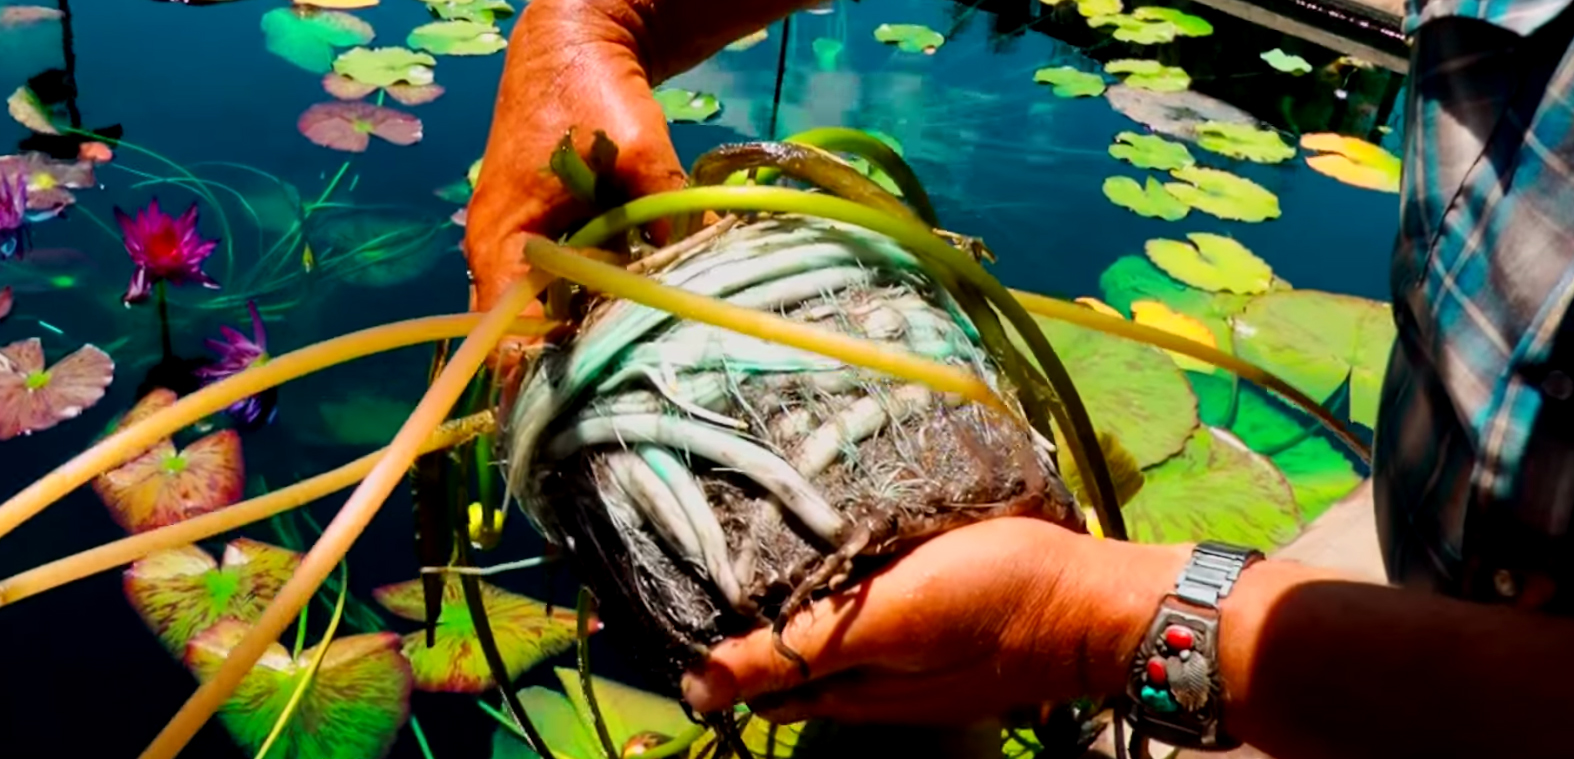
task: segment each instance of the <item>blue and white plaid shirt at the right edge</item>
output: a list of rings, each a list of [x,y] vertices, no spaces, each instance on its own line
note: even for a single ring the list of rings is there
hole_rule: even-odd
[[[1410,8],[1399,339],[1374,450],[1399,583],[1535,605],[1574,587],[1569,2]]]

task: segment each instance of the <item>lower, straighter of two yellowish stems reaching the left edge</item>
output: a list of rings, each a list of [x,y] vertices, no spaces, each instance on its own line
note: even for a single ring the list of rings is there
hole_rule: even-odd
[[[477,435],[491,433],[496,428],[497,417],[491,411],[482,411],[464,419],[455,419],[439,427],[438,431],[427,438],[420,452],[430,454],[433,450],[453,447],[475,438]],[[382,460],[387,450],[389,449],[386,447],[375,450],[337,469],[301,480],[286,488],[279,488],[264,496],[241,501],[228,509],[219,509],[217,512],[178,521],[167,528],[139,532],[112,543],[104,543],[98,548],[66,556],[65,559],[52,561],[41,567],[33,567],[27,572],[13,575],[8,579],[0,579],[0,606],[16,603],[44,591],[52,591],[66,583],[76,583],[77,579],[99,572],[123,567],[151,553],[190,545],[198,540],[225,534],[231,529],[239,529],[253,521],[266,520],[275,513],[299,509],[312,501],[327,496],[329,493],[345,490],[356,482],[360,482],[360,479]]]

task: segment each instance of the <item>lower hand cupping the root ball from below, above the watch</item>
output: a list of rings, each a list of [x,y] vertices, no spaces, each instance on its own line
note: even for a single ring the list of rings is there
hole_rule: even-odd
[[[965,724],[1113,694],[1185,557],[1031,518],[970,524],[795,616],[782,638],[811,682],[759,630],[711,649],[683,696],[778,723]]]

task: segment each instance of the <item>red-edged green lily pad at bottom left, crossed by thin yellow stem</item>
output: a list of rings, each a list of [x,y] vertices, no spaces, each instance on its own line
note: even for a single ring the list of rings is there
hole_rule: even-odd
[[[216,624],[186,647],[186,666],[198,679],[211,679],[247,630],[233,619]],[[257,754],[315,657],[316,646],[291,658],[275,642],[241,679],[219,720],[242,751]],[[337,638],[269,756],[379,759],[409,718],[409,661],[400,653],[398,635]]]

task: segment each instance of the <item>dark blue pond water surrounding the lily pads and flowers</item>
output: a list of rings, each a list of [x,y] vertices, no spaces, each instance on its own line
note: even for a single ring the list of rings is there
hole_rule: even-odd
[[[1297,132],[1339,132],[1390,151],[1398,151],[1399,77],[1338,65],[1335,52],[1190,3],[1177,8],[1207,19],[1215,33],[1157,47],[1088,28],[1072,3],[996,5],[1009,8],[834,0],[800,13],[785,47],[784,28],[774,25],[763,41],[722,52],[671,82],[721,104],[707,123],[674,124],[672,137],[688,162],[718,143],[817,126],[878,131],[902,146],[943,224],[982,236],[998,257],[995,274],[1022,290],[1099,296],[1100,272],[1122,255],[1141,255],[1144,241],[1212,231],[1236,238],[1297,288],[1385,299],[1396,195],[1343,184],[1300,156],[1256,164],[1192,146],[1199,162],[1275,194],[1281,216],[1262,224],[1203,213],[1182,222],[1136,216],[1111,203],[1102,186],[1113,175],[1149,173],[1108,153],[1118,132],[1146,129],[1103,96],[1055,96],[1034,82],[1034,72],[1053,66],[1100,72],[1105,61],[1158,50],[1162,61],[1190,72],[1193,91],[1288,131],[1291,143]],[[90,444],[134,403],[140,376],[159,356],[156,309],[120,302],[132,266],[113,228],[116,206],[131,211],[157,197],[179,213],[197,202],[203,236],[224,238],[208,266],[222,290],[170,291],[172,340],[186,356],[201,354],[203,339],[217,337],[220,324],[249,332],[249,298],[266,317],[274,353],[466,309],[466,272],[455,247],[463,230],[449,220],[460,206],[436,191],[463,181],[480,157],[502,54],[438,57],[442,96],[400,106],[420,118],[419,143],[373,139],[365,153],[334,151],[297,131],[307,107],[332,98],[321,72],[266,49],[263,17],[277,8],[269,0],[212,6],[76,0],[69,39],[58,19],[0,24],[3,93],[69,66],[80,124],[120,124],[123,139],[146,151],[121,146],[98,167],[94,187],[76,191],[74,208],[33,227],[28,258],[0,263],[0,285],[16,293],[14,312],[0,321],[0,345],[41,337],[55,361],[94,343],[113,356],[118,378],[80,419],[0,442],[0,498]],[[414,0],[353,13],[382,46],[403,44],[411,28],[431,20]],[[905,52],[875,39],[881,24],[926,25],[943,33],[944,44],[932,55]],[[512,20],[501,25],[507,31]],[[1277,71],[1261,57],[1272,49],[1299,55],[1314,71]],[[782,88],[773,107],[781,60]],[[9,120],[0,123],[0,153],[28,134]],[[194,184],[170,181],[183,172],[222,187],[205,184],[211,197],[201,197]],[[290,230],[312,200],[329,205],[307,222],[309,258]],[[425,389],[430,359],[430,346],[398,350],[285,386],[275,424],[244,438],[249,487],[296,482],[381,446]],[[342,498],[313,505],[320,523]],[[397,493],[351,553],[351,589],[359,597],[412,576],[409,512],[408,494]],[[523,524],[515,528],[505,553],[518,557],[540,548]],[[274,539],[268,529],[249,534]],[[0,576],[121,535],[98,498],[80,488],[0,542]],[[573,600],[563,576],[535,575],[512,586],[538,598]],[[615,630],[597,638],[593,649],[598,671],[639,680],[619,663]],[[524,682],[552,682],[549,668]],[[19,757],[134,756],[192,688],[187,671],[126,603],[118,572],[0,609],[0,683],[6,746],[0,753]],[[417,693],[414,712],[434,756],[488,756],[496,723],[472,699]],[[214,721],[183,756],[250,754]],[[420,756],[409,731],[400,732],[392,756]]]

